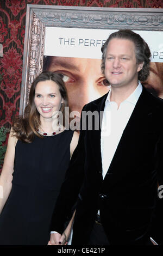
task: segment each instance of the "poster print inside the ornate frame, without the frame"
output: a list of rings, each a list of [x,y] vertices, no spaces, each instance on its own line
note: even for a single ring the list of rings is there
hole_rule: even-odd
[[[101,71],[101,47],[116,30],[82,28],[46,28],[43,70],[62,75],[71,111],[79,114],[83,106],[110,89]],[[151,50],[150,75],[142,84],[163,98],[162,32],[134,31]]]

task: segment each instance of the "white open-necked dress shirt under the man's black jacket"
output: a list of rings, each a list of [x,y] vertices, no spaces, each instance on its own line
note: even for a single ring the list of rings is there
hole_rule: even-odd
[[[110,101],[111,89],[105,101],[102,127],[101,127],[101,156],[103,179],[108,172],[112,158],[114,157],[118,143],[122,137],[128,120],[133,113],[136,102],[142,92],[142,85],[138,86],[131,95],[121,102],[120,107],[115,101]]]

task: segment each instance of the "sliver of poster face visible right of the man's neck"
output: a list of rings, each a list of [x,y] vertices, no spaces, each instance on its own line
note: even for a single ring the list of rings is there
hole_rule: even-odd
[[[163,63],[151,62],[149,77],[142,84],[149,92],[163,99]]]

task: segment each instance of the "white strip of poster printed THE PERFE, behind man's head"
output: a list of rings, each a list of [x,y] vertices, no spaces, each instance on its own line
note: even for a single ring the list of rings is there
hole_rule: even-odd
[[[46,56],[101,59],[101,47],[116,30],[46,27]],[[152,62],[163,62],[163,32],[134,31],[147,42]]]

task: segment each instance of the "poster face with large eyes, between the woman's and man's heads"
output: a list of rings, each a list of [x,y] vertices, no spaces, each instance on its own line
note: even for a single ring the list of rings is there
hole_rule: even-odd
[[[51,58],[48,70],[62,74],[71,111],[81,113],[86,103],[109,91],[101,72],[100,59]]]

